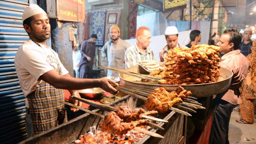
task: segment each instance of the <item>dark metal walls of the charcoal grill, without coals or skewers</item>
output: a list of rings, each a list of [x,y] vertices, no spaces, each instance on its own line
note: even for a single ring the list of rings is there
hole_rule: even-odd
[[[128,105],[131,109],[141,107],[144,104],[144,101],[132,97],[125,96],[120,98],[110,105],[113,107],[118,107],[122,105]],[[100,113],[102,115],[107,115],[108,111],[102,111],[97,108],[90,108],[94,112]],[[145,135],[142,139],[140,139],[137,143],[184,143],[186,141],[186,123],[187,116],[176,113],[174,111],[169,111],[164,115],[159,115],[158,118],[162,118],[164,120],[169,121],[168,123],[160,122],[157,125],[162,126],[164,130],[156,130],[151,129],[151,132],[156,132],[160,135],[164,136],[164,139],[150,137]],[[96,128],[99,127],[100,122],[103,119],[88,113],[85,113],[81,116],[78,116],[67,123],[56,126],[55,128],[40,133],[36,136],[30,137],[24,141],[21,141],[20,144],[45,144],[45,143],[60,143],[60,144],[70,144],[77,140],[80,135],[86,133],[89,128],[93,125]]]

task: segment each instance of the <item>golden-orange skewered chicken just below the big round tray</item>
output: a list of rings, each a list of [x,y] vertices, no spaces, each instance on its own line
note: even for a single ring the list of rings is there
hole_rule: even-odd
[[[152,92],[145,103],[148,110],[157,110],[159,113],[165,113],[169,107],[185,100],[186,96],[191,95],[190,91],[186,91],[179,86],[173,92],[167,92],[164,88],[157,88]]]

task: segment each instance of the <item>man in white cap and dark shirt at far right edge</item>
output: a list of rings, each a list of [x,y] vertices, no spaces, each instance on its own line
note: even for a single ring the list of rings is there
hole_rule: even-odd
[[[239,49],[241,50],[241,53],[244,54],[244,56],[247,56],[252,52],[252,29],[245,28],[243,36],[244,40],[242,41]]]

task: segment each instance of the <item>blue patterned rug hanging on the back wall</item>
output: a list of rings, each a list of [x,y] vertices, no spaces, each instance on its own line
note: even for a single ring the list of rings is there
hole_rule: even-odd
[[[95,42],[96,45],[103,45],[105,17],[105,10],[92,12],[92,34],[96,34],[98,36],[98,39]]]

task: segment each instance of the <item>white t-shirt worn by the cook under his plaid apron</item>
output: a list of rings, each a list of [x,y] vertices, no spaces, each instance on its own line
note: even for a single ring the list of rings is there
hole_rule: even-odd
[[[47,45],[40,44],[40,46],[28,40],[19,47],[14,58],[20,87],[25,97],[34,92],[41,84],[42,80],[38,79],[40,76],[53,70],[53,67],[58,68],[57,61],[62,70],[61,75],[68,74],[67,69],[60,62],[58,54]]]

